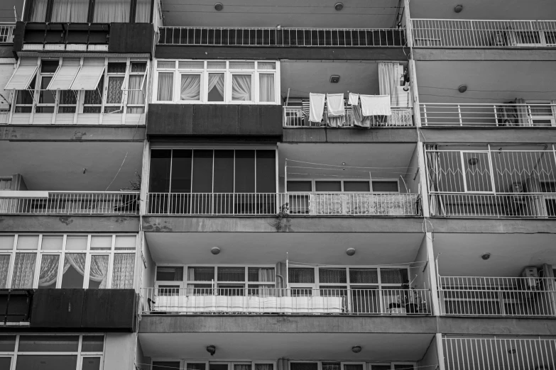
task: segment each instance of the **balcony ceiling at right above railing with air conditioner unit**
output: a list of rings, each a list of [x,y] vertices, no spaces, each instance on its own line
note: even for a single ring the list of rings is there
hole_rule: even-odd
[[[465,220],[461,220],[462,223]],[[527,266],[556,265],[554,234],[435,234],[443,276],[520,276]],[[491,253],[488,260],[481,254]]]

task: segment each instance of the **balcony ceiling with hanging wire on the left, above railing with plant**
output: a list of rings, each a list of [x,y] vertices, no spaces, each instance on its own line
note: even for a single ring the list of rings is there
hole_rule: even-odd
[[[142,155],[142,142],[2,141],[0,176],[21,174],[28,190],[104,191],[118,174],[108,188],[118,191],[141,173]]]

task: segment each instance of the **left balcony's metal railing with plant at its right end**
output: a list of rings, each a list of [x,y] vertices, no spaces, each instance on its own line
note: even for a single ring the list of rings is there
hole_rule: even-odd
[[[48,197],[0,198],[0,213],[137,215],[139,193],[131,191],[48,191]]]

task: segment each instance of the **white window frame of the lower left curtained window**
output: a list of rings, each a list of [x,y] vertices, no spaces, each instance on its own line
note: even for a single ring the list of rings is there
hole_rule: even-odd
[[[11,250],[0,250],[0,255],[10,255],[9,261],[9,269],[8,269],[8,276],[6,277],[6,288],[11,288],[12,280],[13,280],[13,265],[15,264],[16,254],[18,253],[32,253],[36,255],[35,259],[35,271],[33,271],[33,284],[31,287],[26,289],[38,289],[38,280],[40,276],[40,264],[43,261],[43,255],[58,255],[60,258],[58,259],[58,275],[56,276],[56,284],[51,288],[62,288],[62,279],[63,279],[63,265],[65,262],[65,254],[86,254],[85,256],[85,275],[83,276],[83,286],[82,288],[89,288],[89,277],[91,271],[91,260],[92,256],[97,255],[108,255],[108,271],[107,271],[107,286],[105,289],[111,288],[112,285],[112,274],[114,271],[114,257],[115,254],[134,254],[135,255],[135,262],[133,263],[133,286],[131,288],[135,288],[136,285],[136,271],[137,271],[137,253],[138,253],[138,237],[136,234],[70,234],[69,236],[84,236],[87,237],[87,248],[85,250],[67,250],[66,243],[67,243],[67,236],[68,234],[61,234],[61,233],[52,233],[52,234],[37,234],[37,233],[18,233],[18,234],[10,234],[10,233],[2,233],[0,235],[14,235],[13,237],[13,247]],[[38,235],[38,248],[36,250],[17,250],[18,244],[18,237],[20,235]],[[43,243],[43,236],[61,236],[62,237],[62,249],[61,250],[42,250],[42,243]],[[111,237],[111,247],[109,250],[92,250],[91,249],[91,240],[92,237],[95,236],[110,236]],[[135,243],[135,250],[116,250],[116,237],[118,236],[135,236],[136,243]],[[23,288],[22,288],[23,289]]]

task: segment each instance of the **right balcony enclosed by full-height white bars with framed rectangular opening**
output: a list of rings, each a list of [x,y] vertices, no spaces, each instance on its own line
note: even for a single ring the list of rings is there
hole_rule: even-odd
[[[546,145],[545,150],[508,150],[507,147],[436,150],[432,147],[426,152],[431,215],[556,217],[553,146],[547,149]]]

